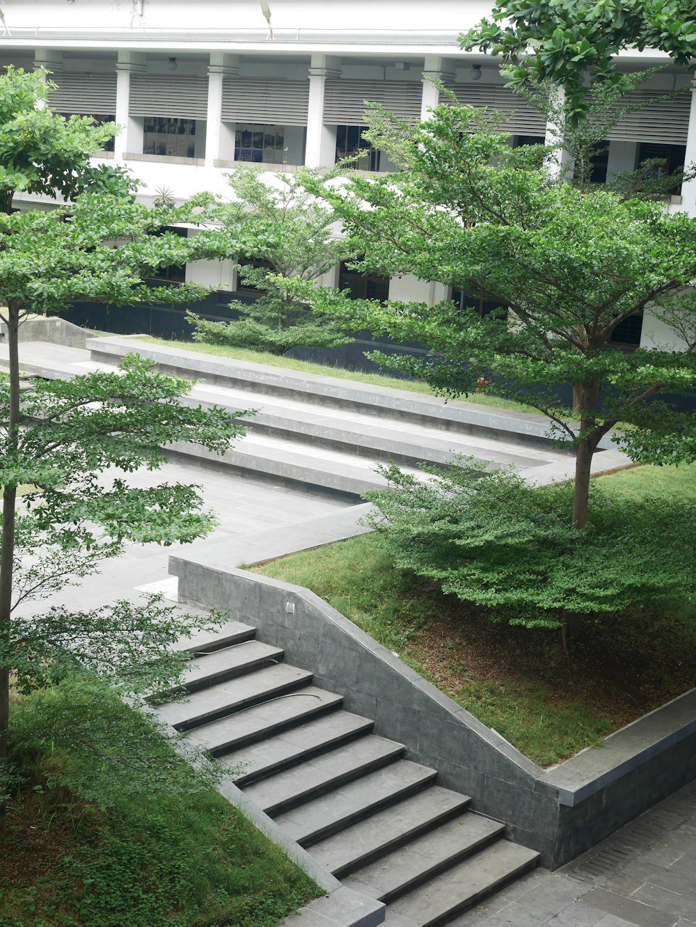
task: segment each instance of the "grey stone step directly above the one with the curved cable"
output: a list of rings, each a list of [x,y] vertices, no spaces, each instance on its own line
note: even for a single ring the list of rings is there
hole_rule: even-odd
[[[166,702],[157,706],[161,720],[177,730],[195,728],[205,721],[232,715],[259,702],[294,692],[309,685],[312,674],[306,669],[288,667],[285,663],[277,667],[259,669],[248,676],[219,682],[209,689],[191,692],[186,701]]]

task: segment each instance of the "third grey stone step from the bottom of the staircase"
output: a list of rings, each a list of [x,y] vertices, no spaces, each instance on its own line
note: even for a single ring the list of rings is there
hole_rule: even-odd
[[[455,815],[464,814],[470,801],[468,795],[433,785],[313,844],[310,854],[340,879]]]

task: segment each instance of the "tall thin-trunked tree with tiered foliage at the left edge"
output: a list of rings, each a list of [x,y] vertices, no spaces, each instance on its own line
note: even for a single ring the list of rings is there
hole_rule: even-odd
[[[178,210],[147,210],[136,203],[133,182],[122,171],[94,170],[89,164],[115,127],[96,126],[88,117],[57,116],[45,105],[49,89],[41,74],[8,69],[0,78],[0,163],[5,165],[0,169],[0,321],[6,324],[9,359],[0,400],[0,764],[7,755],[9,674],[17,659],[7,654],[18,595],[60,582],[64,564],[74,563],[75,556],[82,563],[76,572],[84,575],[98,556],[118,552],[126,538],[169,543],[197,537],[211,524],[199,512],[194,489],[162,486],[138,493],[119,482],[100,489],[95,475],[111,466],[157,467],[163,459],[158,445],[172,436],[222,451],[242,433],[221,410],[181,403],[189,387],[185,381],[168,380],[133,360],[119,375],[22,386],[19,325],[30,313],[57,311],[85,297],[118,304],[153,301],[162,291],[148,289],[144,281],[158,266],[219,256],[232,247],[248,253],[250,244],[237,230],[203,231],[192,239],[154,236],[174,222],[202,222],[205,210],[214,207],[211,198],[197,197]],[[56,210],[13,212],[16,190],[75,198]],[[167,293],[185,299],[204,291],[184,286]],[[21,491],[26,495],[18,513]],[[96,540],[87,523],[110,540]],[[18,587],[22,552],[32,559]]]

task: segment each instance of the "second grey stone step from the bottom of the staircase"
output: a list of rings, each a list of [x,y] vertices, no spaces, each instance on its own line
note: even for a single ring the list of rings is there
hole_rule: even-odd
[[[351,872],[344,883],[388,904],[499,840],[504,831],[499,821],[468,812]]]

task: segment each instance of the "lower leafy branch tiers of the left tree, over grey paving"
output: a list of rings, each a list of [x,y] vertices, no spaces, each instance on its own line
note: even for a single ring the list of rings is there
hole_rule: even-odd
[[[26,488],[14,532],[13,607],[94,572],[126,540],[168,545],[214,526],[196,487],[133,489],[120,477],[99,478],[111,468],[156,469],[172,438],[223,453],[245,433],[226,410],[185,404],[190,388],[137,355],[113,373],[32,379],[20,387],[19,434],[6,425],[9,396],[0,393],[0,484]]]

